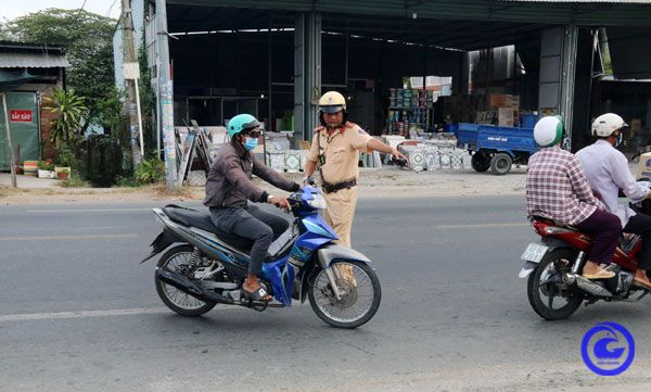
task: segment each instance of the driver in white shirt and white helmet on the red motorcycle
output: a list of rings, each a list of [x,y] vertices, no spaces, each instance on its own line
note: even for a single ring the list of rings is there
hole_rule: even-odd
[[[617,200],[620,189],[634,203],[651,199],[649,188],[636,182],[628,168],[628,160],[616,149],[622,142],[626,126],[628,124],[614,113],[605,113],[595,118],[591,131],[597,141],[579,150],[576,156],[588,177],[590,187],[601,194],[607,210],[621,219],[623,231],[642,237],[642,249],[639,253],[634,283],[651,290],[651,281],[647,275],[651,269],[651,215],[636,213],[628,206],[620,204]]]

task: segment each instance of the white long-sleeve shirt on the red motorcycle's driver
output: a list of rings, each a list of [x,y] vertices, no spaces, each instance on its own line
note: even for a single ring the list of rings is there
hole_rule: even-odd
[[[628,218],[634,216],[635,212],[628,205],[620,204],[620,189],[630,201],[637,203],[647,198],[649,188],[635,181],[626,156],[605,140],[597,140],[580,149],[576,156],[590,182],[590,188],[601,193],[601,201],[607,211],[620,217],[622,227],[626,226]]]

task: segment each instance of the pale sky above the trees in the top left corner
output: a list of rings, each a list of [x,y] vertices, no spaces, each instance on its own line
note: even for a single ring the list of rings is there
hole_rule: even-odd
[[[119,16],[120,0],[0,0],[0,21],[14,20],[50,8],[84,10],[113,18]]]

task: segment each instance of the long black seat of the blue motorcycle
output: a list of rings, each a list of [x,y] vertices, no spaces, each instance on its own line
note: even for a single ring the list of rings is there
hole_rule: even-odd
[[[246,254],[251,252],[251,248],[253,246],[254,242],[253,240],[218,229],[213,224],[210,213],[207,210],[197,211],[170,204],[165,206],[163,211],[173,222],[176,222],[179,225],[196,227],[197,229],[212,232],[221,241],[237,249],[238,251]]]

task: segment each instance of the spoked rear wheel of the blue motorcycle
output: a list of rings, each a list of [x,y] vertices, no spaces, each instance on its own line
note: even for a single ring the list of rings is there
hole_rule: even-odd
[[[192,245],[179,245],[165,252],[158,261],[159,268],[167,268],[175,273],[180,273],[179,268],[187,265],[192,258],[192,252],[194,248]],[[174,286],[166,284],[155,278],[156,292],[161,298],[161,301],[181,316],[200,316],[206,312],[209,312],[215,307],[215,302],[204,302],[195,299],[194,296],[175,288]]]

